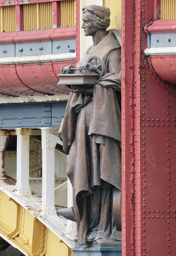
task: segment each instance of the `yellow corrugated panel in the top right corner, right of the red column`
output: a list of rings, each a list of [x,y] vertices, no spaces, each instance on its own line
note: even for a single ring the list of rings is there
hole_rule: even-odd
[[[161,19],[176,19],[176,0],[161,0]]]

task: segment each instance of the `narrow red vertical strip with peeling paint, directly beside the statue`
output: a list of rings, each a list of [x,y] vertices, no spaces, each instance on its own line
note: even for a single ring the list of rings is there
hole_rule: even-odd
[[[134,255],[134,2],[122,1],[122,255]]]

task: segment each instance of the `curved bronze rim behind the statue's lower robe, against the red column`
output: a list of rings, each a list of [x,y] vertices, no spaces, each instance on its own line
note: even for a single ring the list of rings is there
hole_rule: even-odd
[[[122,231],[121,191],[118,188],[114,189],[113,212],[114,212],[115,226],[118,231]]]

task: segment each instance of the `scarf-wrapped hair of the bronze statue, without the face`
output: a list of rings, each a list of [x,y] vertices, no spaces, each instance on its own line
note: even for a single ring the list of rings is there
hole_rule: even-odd
[[[106,30],[110,25],[110,10],[107,7],[89,5],[82,8],[83,18],[90,20],[97,30]]]

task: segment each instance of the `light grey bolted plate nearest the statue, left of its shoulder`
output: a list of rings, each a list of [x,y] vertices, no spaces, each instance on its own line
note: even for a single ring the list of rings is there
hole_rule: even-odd
[[[76,52],[75,39],[58,40],[52,42],[52,54],[69,53],[70,50],[74,50],[74,52]]]

